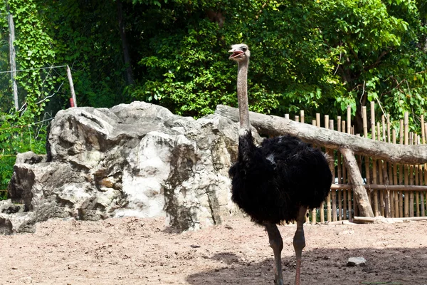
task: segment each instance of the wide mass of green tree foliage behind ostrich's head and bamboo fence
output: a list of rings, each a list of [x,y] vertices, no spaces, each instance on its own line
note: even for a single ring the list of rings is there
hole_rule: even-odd
[[[374,100],[399,119],[425,110],[426,22],[416,1],[174,1],[144,6],[133,98],[181,115],[236,105],[236,66],[226,49],[251,47],[252,110],[354,115]],[[135,9],[139,7],[137,4]],[[209,17],[223,16],[223,24]],[[217,14],[217,15],[218,15]],[[155,28],[152,28],[155,25]],[[377,104],[379,105],[379,104]],[[315,112],[313,111],[315,110]],[[360,115],[359,115],[359,118]]]

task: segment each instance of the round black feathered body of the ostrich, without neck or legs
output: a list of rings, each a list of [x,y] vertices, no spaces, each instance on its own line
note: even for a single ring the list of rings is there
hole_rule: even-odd
[[[239,137],[238,161],[231,166],[233,202],[254,222],[290,222],[298,209],[319,207],[330,192],[332,174],[325,155],[290,135],[263,140]]]

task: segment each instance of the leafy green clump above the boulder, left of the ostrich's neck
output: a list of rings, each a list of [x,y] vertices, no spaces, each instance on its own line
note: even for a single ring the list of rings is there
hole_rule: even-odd
[[[205,19],[183,26],[174,36],[168,30],[169,25],[157,30],[149,41],[145,52],[155,52],[139,61],[147,69],[146,80],[132,96],[194,116],[212,113],[218,103],[235,103],[235,96],[225,88],[235,72],[230,73],[227,64],[231,63],[223,60],[226,46],[218,48],[216,24]]]

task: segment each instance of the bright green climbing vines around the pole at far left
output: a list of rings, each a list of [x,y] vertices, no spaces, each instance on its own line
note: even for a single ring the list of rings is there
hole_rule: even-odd
[[[51,48],[53,39],[46,34],[43,26],[43,16],[38,13],[35,1],[10,0],[9,11],[14,15],[16,41],[16,61],[18,69],[16,80],[19,82],[19,93],[23,98],[21,110],[6,110],[14,104],[11,98],[11,88],[5,88],[0,93],[0,99],[4,104],[0,112],[0,199],[6,198],[6,187],[13,172],[13,166],[18,152],[32,150],[36,153],[46,153],[46,126],[36,124],[37,120],[44,118],[46,103],[51,94],[56,91],[60,77],[51,74],[51,70],[43,71],[46,65],[52,64],[55,52]],[[0,5],[1,14],[6,16],[6,3]],[[0,66],[3,70],[9,69],[6,56],[7,22],[6,17],[0,21],[1,42]],[[10,74],[8,74],[10,76]],[[8,81],[6,76],[0,78],[0,82]],[[6,83],[1,82],[3,86]],[[9,85],[9,84],[8,84]]]

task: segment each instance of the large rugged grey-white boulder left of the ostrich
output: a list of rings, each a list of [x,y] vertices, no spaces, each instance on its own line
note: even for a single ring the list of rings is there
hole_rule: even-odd
[[[238,125],[220,115],[194,120],[143,102],[61,110],[48,157],[17,157],[0,232],[52,217],[166,217],[180,230],[221,223],[238,212],[228,178],[237,140]]]

